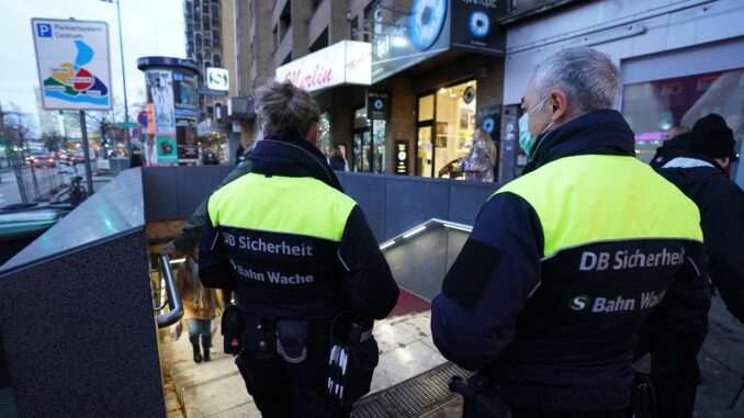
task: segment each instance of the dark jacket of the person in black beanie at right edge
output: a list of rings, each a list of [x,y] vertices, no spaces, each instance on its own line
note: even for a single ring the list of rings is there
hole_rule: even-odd
[[[700,208],[710,279],[744,321],[744,191],[702,155],[674,158],[657,171]]]

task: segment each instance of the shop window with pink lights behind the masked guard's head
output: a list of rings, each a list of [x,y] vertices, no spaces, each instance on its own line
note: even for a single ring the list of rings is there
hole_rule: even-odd
[[[710,113],[725,118],[740,151],[744,137],[744,69],[641,82],[623,89],[622,114],[635,133],[635,155],[644,162],[651,161],[669,129],[691,128]]]

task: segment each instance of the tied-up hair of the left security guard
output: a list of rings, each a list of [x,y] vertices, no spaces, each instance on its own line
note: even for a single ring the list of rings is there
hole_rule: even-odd
[[[277,139],[305,139],[320,112],[309,93],[285,80],[269,81],[257,94],[264,129]]]

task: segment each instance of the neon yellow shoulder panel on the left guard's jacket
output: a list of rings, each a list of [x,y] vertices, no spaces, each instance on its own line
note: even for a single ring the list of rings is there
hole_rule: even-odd
[[[319,180],[249,173],[212,194],[212,225],[340,241],[357,203]]]

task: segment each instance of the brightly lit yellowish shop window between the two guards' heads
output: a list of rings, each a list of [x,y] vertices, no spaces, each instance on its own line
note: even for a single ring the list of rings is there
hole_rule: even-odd
[[[467,81],[419,99],[419,176],[463,178],[460,160],[467,157],[475,131],[475,81]],[[428,98],[436,101],[431,108]],[[432,122],[422,118],[432,113]]]

